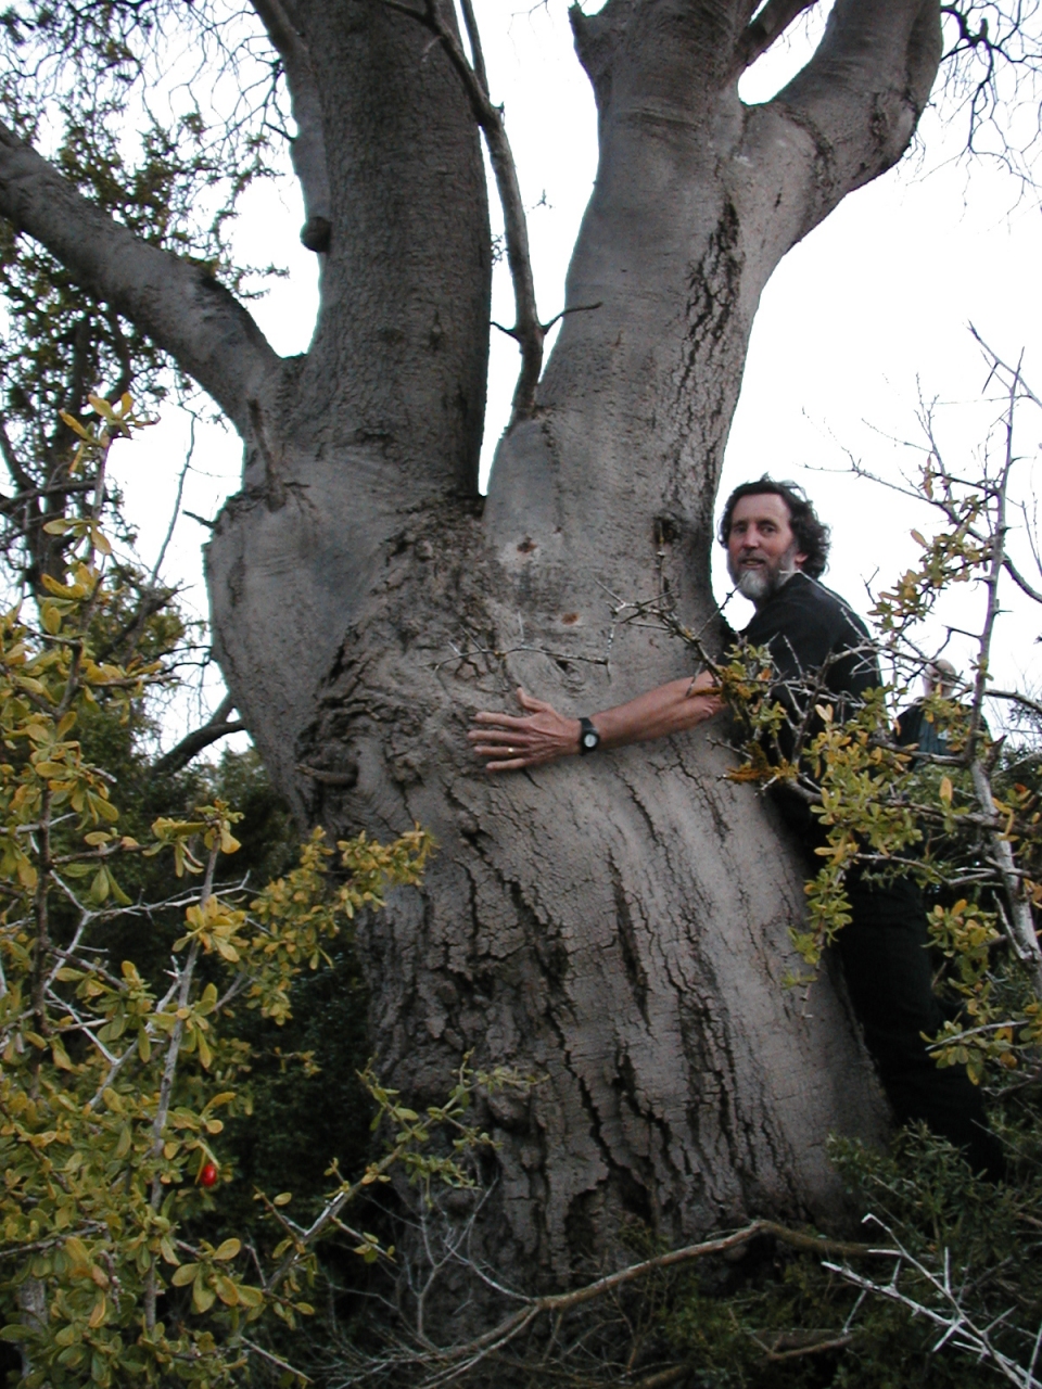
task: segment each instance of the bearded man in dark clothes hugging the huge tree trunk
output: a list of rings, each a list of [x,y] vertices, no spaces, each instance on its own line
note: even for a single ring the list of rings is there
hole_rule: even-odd
[[[746,482],[728,497],[718,539],[735,586],[756,606],[742,638],[770,650],[777,696],[792,707],[799,699],[792,686],[820,672],[821,694],[832,697],[838,718],[847,717],[881,683],[879,669],[864,622],[818,582],[828,558],[828,528],[810,501],[792,483],[767,476]],[[490,772],[665,738],[722,708],[709,671],[585,718],[565,718],[524,690],[518,700],[525,710],[521,717],[475,715],[478,726],[470,739]],[[795,793],[781,788],[777,799],[816,871],[814,850],[825,843],[824,826]],[[866,882],[854,870],[846,888],[852,921],[839,932],[839,954],[898,1121],[925,1121],[966,1151],[974,1171],[998,1179],[1002,1149],[986,1128],[979,1090],[961,1067],[938,1070],[923,1040],[924,1033],[941,1031],[943,1014],[932,989],[918,886],[906,876]]]

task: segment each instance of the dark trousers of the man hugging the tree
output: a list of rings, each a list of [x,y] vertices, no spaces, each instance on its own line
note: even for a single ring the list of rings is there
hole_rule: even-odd
[[[988,1131],[981,1092],[961,1065],[939,1068],[921,1033],[943,1013],[931,988],[927,913],[909,878],[886,886],[847,883],[853,920],[836,938],[850,1001],[900,1124],[924,1120],[961,1147],[977,1172],[998,1181],[1002,1147]]]

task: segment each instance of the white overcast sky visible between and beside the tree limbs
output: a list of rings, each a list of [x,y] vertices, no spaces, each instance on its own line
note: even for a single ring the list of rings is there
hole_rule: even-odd
[[[539,308],[550,318],[563,303],[564,275],[596,169],[596,125],[589,85],[572,51],[564,0],[515,8],[513,0],[478,0],[493,99],[503,101],[529,213]],[[778,46],[747,75],[742,94],[772,94],[809,53],[821,19]],[[803,483],[834,532],[827,582],[861,611],[873,575],[895,576],[914,561],[909,531],[928,528],[913,504],[842,475],[847,453],[877,474],[914,469],[920,396],[941,401],[950,461],[970,467],[998,407],[979,401],[985,368],[970,338],[973,322],[1004,357],[1024,353],[1025,375],[1042,394],[1042,214],[1038,194],[986,164],[957,156],[964,131],[929,111],[923,154],[847,197],[768,283],[753,329],[721,496],[736,482],[770,471]],[[495,203],[495,199],[493,199]],[[496,213],[493,211],[493,217]],[[289,267],[289,279],[251,306],[281,353],[307,347],[317,303],[315,258],[297,240],[300,200],[292,181],[247,196],[239,221],[239,253],[253,263]],[[497,267],[493,318],[508,322],[511,293]],[[506,422],[517,349],[493,332],[485,468]],[[1042,439],[1042,415],[1023,414],[1024,492]],[[161,544],[185,456],[188,422],[175,411],[114,458],[128,510],[140,529],[143,557]],[[238,486],[236,438],[197,426],[185,507],[213,517]],[[197,522],[178,522],[164,565],[181,578],[186,599],[206,611]],[[717,575],[718,590],[727,588]],[[959,594],[960,625],[970,625],[974,597]],[[735,604],[738,608],[738,604]],[[731,610],[729,610],[729,615]],[[732,621],[741,621],[735,611]],[[1000,631],[1003,682],[1032,685],[1039,619],[1017,607]],[[956,650],[956,660],[966,651]],[[999,674],[996,671],[996,674]],[[217,686],[210,697],[215,701]],[[171,711],[169,736],[197,717]]]

